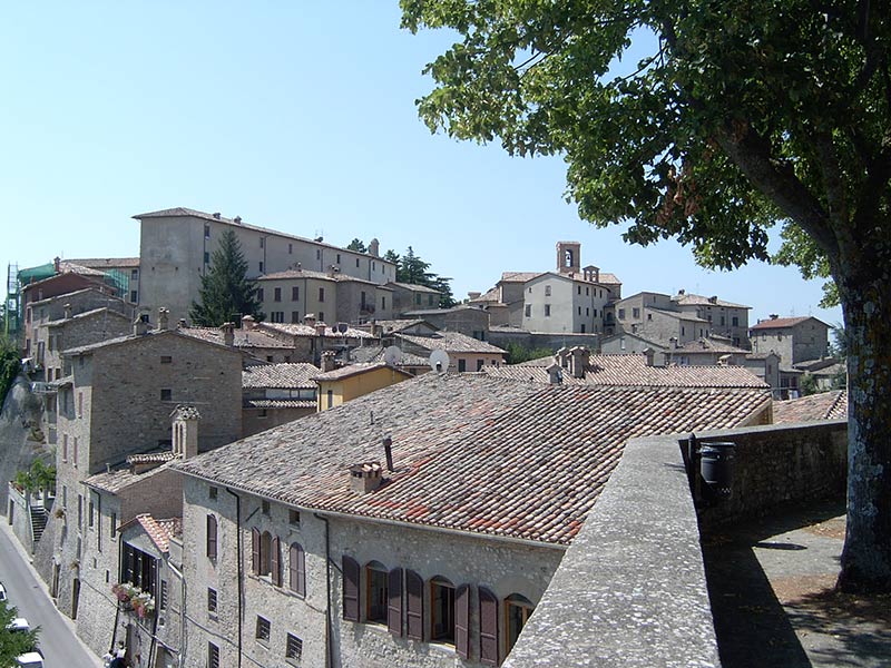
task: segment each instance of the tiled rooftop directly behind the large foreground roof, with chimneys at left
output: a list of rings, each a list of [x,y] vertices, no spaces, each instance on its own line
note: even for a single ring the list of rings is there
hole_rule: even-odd
[[[547,366],[554,357],[540,357],[522,364],[483,366],[487,375],[548,383]],[[565,385],[627,385],[639,387],[752,387],[767,385],[744,366],[647,366],[644,355],[591,355],[584,379],[562,370]]]

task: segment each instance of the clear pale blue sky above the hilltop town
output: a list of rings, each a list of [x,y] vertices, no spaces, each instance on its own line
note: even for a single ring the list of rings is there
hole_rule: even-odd
[[[0,23],[0,263],[139,254],[130,216],[185,206],[333,244],[409,245],[457,297],[546,271],[557,240],[626,295],[678,288],[815,315],[820,283],[754,264],[702,269],[582,223],[559,158],[431,135],[414,100],[444,32],[383,2],[11,2]],[[640,45],[646,48],[647,45]],[[636,56],[630,59],[636,61]]]

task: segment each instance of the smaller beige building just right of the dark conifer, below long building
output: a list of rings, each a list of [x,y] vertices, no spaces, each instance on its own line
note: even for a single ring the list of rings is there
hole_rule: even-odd
[[[297,267],[265,274],[257,283],[270,323],[300,324],[311,313],[320,322],[358,325],[393,313],[389,286],[343,274],[333,265],[325,273]]]

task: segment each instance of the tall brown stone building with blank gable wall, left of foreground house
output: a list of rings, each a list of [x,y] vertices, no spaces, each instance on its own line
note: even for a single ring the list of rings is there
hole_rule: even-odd
[[[86,540],[85,481],[128,455],[169,450],[170,411],[180,403],[204,415],[202,451],[242,433],[242,354],[169,330],[164,313],[157,330],[149,326],[138,320],[130,335],[65,351],[71,375],[55,382],[56,505],[61,517],[50,519],[58,525],[48,533],[58,542],[41,574],[52,583],[58,607],[71,617],[78,615]],[[100,521],[109,521],[107,513]]]

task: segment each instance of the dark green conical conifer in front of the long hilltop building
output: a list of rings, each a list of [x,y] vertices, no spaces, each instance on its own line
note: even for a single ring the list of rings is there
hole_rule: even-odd
[[[189,316],[196,325],[218,327],[243,315],[263,317],[257,299],[257,284],[247,278],[247,261],[238,237],[227,229],[202,276],[200,301],[193,302]]]

